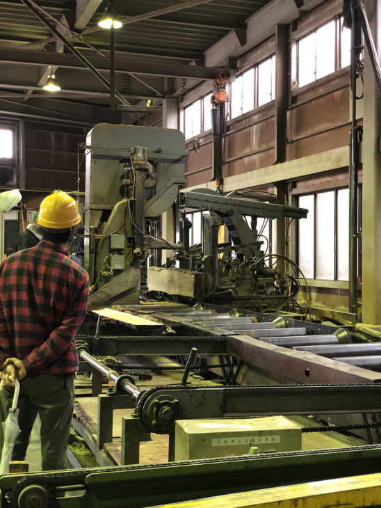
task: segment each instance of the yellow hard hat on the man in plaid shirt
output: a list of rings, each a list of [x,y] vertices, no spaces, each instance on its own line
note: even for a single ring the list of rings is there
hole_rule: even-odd
[[[49,194],[40,205],[37,222],[43,228],[65,230],[72,228],[81,221],[76,201],[63,191]]]

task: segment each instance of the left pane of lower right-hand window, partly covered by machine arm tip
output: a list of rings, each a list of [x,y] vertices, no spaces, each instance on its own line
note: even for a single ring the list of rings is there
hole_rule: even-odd
[[[314,195],[301,196],[299,206],[308,209],[307,219],[299,221],[299,268],[305,277],[314,278]]]

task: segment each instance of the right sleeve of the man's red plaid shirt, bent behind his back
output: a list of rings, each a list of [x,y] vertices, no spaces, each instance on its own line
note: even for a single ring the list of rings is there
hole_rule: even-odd
[[[29,355],[27,355],[22,363],[28,374],[37,374],[44,370],[59,358],[74,340],[74,335],[81,326],[86,314],[89,293],[89,280],[86,276],[83,285],[76,292],[67,312],[63,317],[61,324],[54,328],[39,347],[35,347]]]

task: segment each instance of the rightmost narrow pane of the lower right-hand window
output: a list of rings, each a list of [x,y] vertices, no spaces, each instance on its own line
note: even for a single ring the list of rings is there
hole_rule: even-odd
[[[337,280],[348,280],[349,190],[337,191]]]

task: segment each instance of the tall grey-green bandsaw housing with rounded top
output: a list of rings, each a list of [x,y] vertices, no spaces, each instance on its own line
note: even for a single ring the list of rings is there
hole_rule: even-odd
[[[160,217],[184,184],[184,135],[175,129],[99,124],[86,138],[85,265],[89,308],[137,303],[140,267],[161,239]]]

